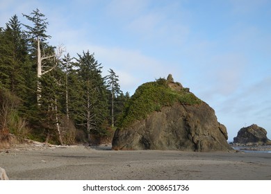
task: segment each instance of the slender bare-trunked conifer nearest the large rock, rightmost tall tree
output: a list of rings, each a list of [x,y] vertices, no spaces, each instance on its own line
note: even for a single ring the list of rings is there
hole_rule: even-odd
[[[118,94],[121,94],[122,91],[120,90],[120,85],[118,83],[119,81],[119,76],[116,75],[116,73],[110,69],[110,71],[108,71],[110,74],[106,77],[107,79],[107,85],[108,85],[108,89],[110,91],[110,96],[111,96],[111,125],[112,127],[114,127],[115,124],[115,119],[114,119],[114,101],[115,98]]]

